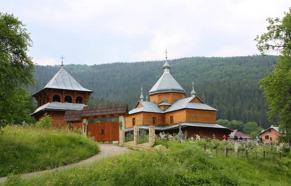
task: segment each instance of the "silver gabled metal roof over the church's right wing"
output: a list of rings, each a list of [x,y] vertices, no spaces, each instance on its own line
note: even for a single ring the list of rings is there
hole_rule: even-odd
[[[191,103],[190,101],[192,101],[195,97],[196,96],[187,97],[185,99],[180,99],[176,101],[171,107],[166,109],[164,113],[179,110],[179,109],[200,109],[200,110],[215,110],[216,111],[216,109],[213,109],[212,107],[204,103]]]

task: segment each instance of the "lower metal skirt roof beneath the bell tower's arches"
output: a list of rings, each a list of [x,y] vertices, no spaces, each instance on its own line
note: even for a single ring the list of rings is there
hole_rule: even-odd
[[[37,108],[32,114],[41,110],[82,110],[85,104],[52,102]],[[31,115],[32,115],[31,114]]]

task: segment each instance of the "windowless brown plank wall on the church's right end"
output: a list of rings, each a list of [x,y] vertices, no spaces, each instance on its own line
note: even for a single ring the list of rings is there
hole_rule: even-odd
[[[215,110],[186,109],[186,122],[216,124]]]

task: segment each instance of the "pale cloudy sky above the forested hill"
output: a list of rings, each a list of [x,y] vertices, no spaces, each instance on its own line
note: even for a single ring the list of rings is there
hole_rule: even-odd
[[[39,65],[259,54],[254,38],[291,0],[0,0],[26,24]],[[274,54],[276,55],[276,53]]]

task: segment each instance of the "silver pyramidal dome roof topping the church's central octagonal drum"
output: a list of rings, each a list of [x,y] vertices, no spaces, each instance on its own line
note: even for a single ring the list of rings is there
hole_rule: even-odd
[[[173,78],[170,74],[170,65],[166,61],[163,65],[164,73],[162,77],[156,82],[156,84],[149,91],[149,95],[154,93],[167,93],[167,92],[175,92],[175,93],[184,93],[184,89],[179,85],[179,83]]]

